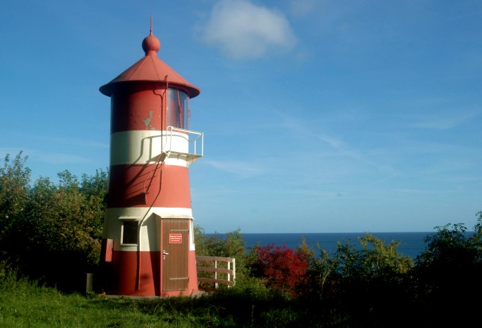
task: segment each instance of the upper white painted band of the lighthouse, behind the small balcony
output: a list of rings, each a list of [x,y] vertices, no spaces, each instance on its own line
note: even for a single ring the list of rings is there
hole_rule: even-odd
[[[168,151],[189,152],[189,135],[166,131],[122,131],[110,135],[110,165],[154,164],[163,160],[160,154]],[[183,155],[170,155],[166,164],[187,166]]]

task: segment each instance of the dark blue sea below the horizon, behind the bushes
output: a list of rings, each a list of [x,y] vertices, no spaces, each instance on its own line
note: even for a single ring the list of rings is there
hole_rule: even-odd
[[[399,254],[410,256],[416,259],[417,255],[426,250],[426,237],[435,232],[370,232],[371,235],[381,239],[385,244],[391,241],[398,241],[397,248]],[[465,232],[469,237],[473,232]],[[207,237],[218,239],[226,238],[226,234],[206,234]],[[309,248],[315,250],[315,255],[319,254],[319,248],[326,250],[328,254],[334,254],[337,250],[337,243],[348,241],[355,248],[361,248],[358,237],[363,237],[364,232],[325,232],[325,233],[243,233],[244,246],[250,250],[255,245],[266,246],[268,244],[286,245],[287,248],[295,249],[302,244],[302,239],[306,241]]]

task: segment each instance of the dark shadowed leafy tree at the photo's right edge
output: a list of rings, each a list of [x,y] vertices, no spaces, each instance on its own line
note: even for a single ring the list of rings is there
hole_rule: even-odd
[[[427,318],[440,325],[465,325],[479,311],[474,296],[482,293],[482,212],[474,233],[463,223],[439,226],[426,237],[426,250],[416,259],[416,300]]]

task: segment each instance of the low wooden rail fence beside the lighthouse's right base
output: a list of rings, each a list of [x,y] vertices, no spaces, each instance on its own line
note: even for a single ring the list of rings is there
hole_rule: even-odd
[[[236,260],[231,257],[196,256],[200,288],[219,284],[231,287],[236,281]],[[206,288],[208,289],[208,288]]]

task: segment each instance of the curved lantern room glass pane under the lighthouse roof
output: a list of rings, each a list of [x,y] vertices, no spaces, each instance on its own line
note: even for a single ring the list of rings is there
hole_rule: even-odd
[[[177,88],[167,89],[167,126],[188,129],[189,97]]]

